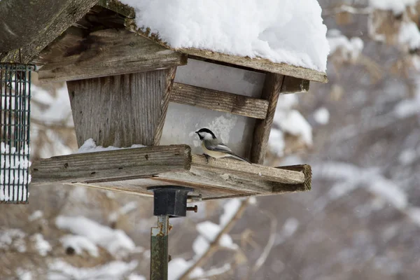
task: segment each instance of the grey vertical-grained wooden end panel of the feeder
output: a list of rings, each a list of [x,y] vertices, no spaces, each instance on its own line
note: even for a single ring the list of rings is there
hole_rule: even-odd
[[[67,82],[78,146],[152,146],[165,120],[174,69]]]

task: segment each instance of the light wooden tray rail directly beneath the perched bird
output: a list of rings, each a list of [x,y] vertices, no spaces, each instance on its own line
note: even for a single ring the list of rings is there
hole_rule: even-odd
[[[298,184],[305,181],[304,174],[301,171],[277,169],[274,167],[262,168],[260,165],[250,165],[248,162],[223,158],[209,160],[207,163],[204,155],[192,155],[191,169],[218,174],[235,174],[256,181],[265,180],[286,184]]]

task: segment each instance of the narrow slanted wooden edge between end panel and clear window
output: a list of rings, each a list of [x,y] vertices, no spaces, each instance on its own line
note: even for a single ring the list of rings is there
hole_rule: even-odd
[[[153,137],[153,146],[158,146],[160,144],[160,138],[162,137],[163,126],[165,125],[166,114],[168,111],[169,99],[171,98],[172,85],[174,84],[176,73],[176,67],[167,69],[165,74],[165,92],[162,96],[162,101],[160,102],[160,118],[158,120],[158,125],[155,127],[155,136]]]

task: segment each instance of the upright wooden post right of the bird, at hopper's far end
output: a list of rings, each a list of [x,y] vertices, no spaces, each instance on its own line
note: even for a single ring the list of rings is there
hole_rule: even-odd
[[[276,73],[267,73],[261,98],[269,103],[265,120],[256,120],[251,147],[251,162],[262,165],[265,152],[267,151],[269,132],[272,127],[274,113],[276,112],[277,100],[283,85],[284,76]]]

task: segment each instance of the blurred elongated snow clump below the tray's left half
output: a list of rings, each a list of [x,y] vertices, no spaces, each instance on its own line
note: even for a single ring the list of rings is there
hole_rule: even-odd
[[[106,248],[115,258],[124,258],[136,247],[132,239],[123,230],[113,230],[83,216],[58,216],[55,225],[60,230],[69,230],[75,235],[86,237],[93,244]],[[80,243],[77,246],[81,246]]]

